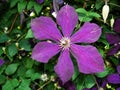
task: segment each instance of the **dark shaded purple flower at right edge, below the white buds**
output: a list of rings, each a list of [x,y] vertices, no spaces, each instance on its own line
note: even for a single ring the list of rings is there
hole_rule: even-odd
[[[113,29],[116,32],[113,33],[107,33],[106,39],[112,45],[113,47],[108,51],[107,55],[111,56],[116,54],[120,50],[120,18],[116,19]]]

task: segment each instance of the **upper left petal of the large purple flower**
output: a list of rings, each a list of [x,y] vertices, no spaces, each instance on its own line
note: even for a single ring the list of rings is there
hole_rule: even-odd
[[[31,28],[35,38],[40,40],[51,39],[58,41],[62,37],[55,22],[50,17],[41,16],[33,19]]]

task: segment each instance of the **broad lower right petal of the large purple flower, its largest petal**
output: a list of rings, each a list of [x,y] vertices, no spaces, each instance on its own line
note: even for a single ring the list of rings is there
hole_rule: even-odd
[[[80,72],[91,74],[104,71],[103,59],[95,47],[72,44],[71,53],[77,60]]]

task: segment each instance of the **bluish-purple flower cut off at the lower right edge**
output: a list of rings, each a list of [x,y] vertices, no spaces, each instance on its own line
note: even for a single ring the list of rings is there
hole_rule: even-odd
[[[120,66],[117,66],[117,73],[110,74],[107,77],[107,80],[109,83],[112,83],[112,84],[120,84]],[[120,90],[120,87],[117,88],[116,90]]]

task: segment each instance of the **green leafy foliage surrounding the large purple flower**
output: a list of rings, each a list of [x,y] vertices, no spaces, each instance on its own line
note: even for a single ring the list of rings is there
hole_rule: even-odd
[[[95,87],[96,78],[104,80],[111,73],[116,73],[115,67],[120,63],[119,55],[107,56],[112,46],[106,40],[106,33],[114,33],[113,28],[110,27],[110,19],[120,16],[120,2],[109,0],[110,13],[107,23],[103,22],[101,15],[104,0],[64,0],[64,2],[73,6],[78,13],[80,22],[75,30],[88,21],[102,27],[100,39],[92,45],[97,47],[104,58],[105,71],[94,75],[82,74],[78,71],[74,58],[72,60],[75,64],[75,73],[71,80],[75,83],[76,89]],[[60,5],[59,8],[62,6]],[[64,90],[58,85],[57,75],[54,72],[57,55],[48,64],[31,59],[32,49],[38,42],[30,27],[31,20],[39,16],[49,16],[54,19],[53,8],[53,0],[44,0],[41,4],[36,0],[0,1],[0,59],[5,60],[5,64],[0,66],[1,90]],[[41,79],[44,73],[48,75],[47,81]],[[109,85],[114,90],[118,87]]]

